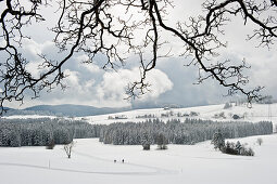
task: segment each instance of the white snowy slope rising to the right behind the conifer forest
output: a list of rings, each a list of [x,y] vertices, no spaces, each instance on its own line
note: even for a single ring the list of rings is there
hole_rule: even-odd
[[[191,111],[198,113],[199,116],[194,117],[177,117],[177,114],[190,114]],[[162,114],[173,114],[169,117],[162,117]],[[216,114],[224,113],[226,118],[215,118]],[[200,119],[212,119],[212,120],[234,120],[232,115],[239,115],[243,117],[239,119],[240,121],[251,121],[257,122],[262,120],[273,121],[274,124],[277,124],[277,104],[253,104],[251,108],[247,107],[247,105],[232,106],[231,108],[224,109],[224,104],[221,105],[207,105],[207,106],[198,106],[198,107],[188,107],[188,108],[172,108],[172,109],[163,109],[163,108],[150,108],[150,109],[136,109],[130,111],[117,113],[117,114],[109,114],[109,115],[100,115],[100,116],[87,116],[87,117],[78,117],[76,119],[84,119],[90,123],[99,123],[99,124],[109,124],[112,122],[126,122],[126,121],[143,121],[143,118],[136,118],[138,116],[143,115],[154,115],[155,117],[162,120],[168,119],[180,119],[185,120],[186,118],[200,118]],[[126,116],[127,119],[109,119],[110,117],[116,116]]]

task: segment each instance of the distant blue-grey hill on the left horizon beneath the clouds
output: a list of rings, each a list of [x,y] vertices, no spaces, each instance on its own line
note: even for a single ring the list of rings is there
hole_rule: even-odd
[[[104,115],[111,113],[119,113],[124,110],[129,110],[129,107],[123,108],[98,108],[93,106],[86,105],[37,105],[28,107],[25,109],[11,109],[8,110],[4,115],[55,115],[55,116],[93,116],[93,115]]]

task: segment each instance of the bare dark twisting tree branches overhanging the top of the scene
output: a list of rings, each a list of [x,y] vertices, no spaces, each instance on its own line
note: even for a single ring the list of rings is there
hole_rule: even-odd
[[[55,34],[55,45],[64,57],[53,61],[41,53],[43,63],[37,77],[26,69],[29,61],[20,50],[24,47],[23,40],[30,39],[23,29],[32,26],[33,22],[43,22],[40,11],[54,2],[59,4],[59,21],[51,30]],[[129,83],[126,93],[129,97],[144,94],[149,88],[147,73],[155,68],[160,57],[169,56],[160,52],[165,43],[171,42],[163,38],[165,32],[182,43],[181,55],[189,56],[189,65],[196,65],[199,69],[198,83],[213,78],[228,89],[229,95],[240,92],[247,95],[249,102],[260,100],[262,87],[252,90],[244,88],[249,82],[243,75],[243,70],[249,68],[244,60],[238,65],[231,60],[212,64],[210,61],[218,55],[221,48],[226,47],[218,36],[224,35],[224,25],[234,16],[241,17],[245,26],[255,25],[249,40],[259,39],[260,47],[270,48],[277,38],[277,1],[206,0],[202,4],[204,15],[169,26],[166,15],[173,5],[174,1],[169,0],[0,0],[1,107],[5,101],[23,102],[27,90],[37,97],[43,89],[65,88],[62,82],[66,77],[63,66],[76,53],[87,54],[88,64],[101,54],[105,58],[103,68],[113,69],[124,64],[129,55],[137,55],[141,77]],[[125,10],[125,14],[116,14],[115,9]],[[143,32],[141,40],[134,41],[139,30]],[[147,50],[151,50],[151,56],[146,53]]]

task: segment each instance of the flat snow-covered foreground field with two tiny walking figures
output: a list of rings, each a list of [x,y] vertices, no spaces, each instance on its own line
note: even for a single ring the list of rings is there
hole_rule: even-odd
[[[261,146],[257,137],[263,139]],[[148,152],[141,146],[103,145],[97,139],[75,140],[71,159],[62,146],[1,147],[0,183],[276,184],[277,134],[239,140],[254,149],[254,157],[222,154],[210,142],[168,145],[167,150],[155,150],[154,145]]]

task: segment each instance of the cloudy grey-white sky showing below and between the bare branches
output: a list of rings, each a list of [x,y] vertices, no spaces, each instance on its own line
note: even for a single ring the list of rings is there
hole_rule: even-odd
[[[174,11],[169,11],[168,24],[175,25],[176,21],[186,19],[189,14],[194,15],[201,10],[199,2],[191,0],[188,3],[188,1],[175,0],[176,6]],[[33,26],[27,29],[27,32],[32,32],[33,39],[25,41],[23,48],[24,54],[32,61],[27,67],[33,75],[39,75],[36,70],[39,63],[37,54],[47,53],[51,57],[61,57],[53,49],[51,34],[41,34],[45,32],[43,27],[51,27],[55,19],[50,9],[46,15],[47,21],[43,26]],[[239,62],[245,58],[247,63],[252,66],[247,71],[250,76],[250,86],[264,86],[263,93],[276,98],[277,48],[275,45],[268,51],[266,48],[256,48],[256,41],[245,41],[245,36],[251,32],[251,28],[244,28],[243,23],[238,19],[228,25],[225,38],[228,41],[228,48],[223,50],[221,56],[215,60],[231,58]],[[164,37],[167,38],[167,35]],[[171,39],[169,36],[168,39]],[[171,45],[176,55],[181,51],[178,45],[178,42],[173,42]],[[65,79],[68,88],[65,91],[60,89],[50,93],[42,91],[40,97],[33,101],[27,94],[22,106],[17,103],[10,103],[9,106],[23,108],[40,104],[81,104],[97,107],[122,107],[129,106],[131,103],[141,106],[163,103],[196,106],[231,100],[231,97],[223,97],[226,89],[219,87],[216,81],[207,80],[202,84],[193,84],[198,77],[197,67],[184,66],[190,62],[189,58],[172,56],[159,60],[156,68],[148,74],[147,80],[152,84],[151,92],[135,102],[126,101],[124,98],[127,83],[139,78],[136,56],[130,56],[129,63],[118,68],[117,71],[101,69],[100,63],[103,60],[101,57],[95,64],[89,65],[83,64],[86,58],[86,55],[77,54],[63,67],[65,74],[68,75]]]

